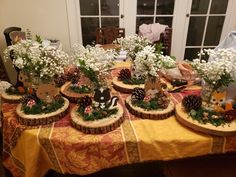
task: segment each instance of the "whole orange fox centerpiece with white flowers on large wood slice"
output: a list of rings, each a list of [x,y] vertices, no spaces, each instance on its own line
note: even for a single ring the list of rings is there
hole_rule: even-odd
[[[195,59],[191,63],[202,78],[201,96],[187,96],[177,105],[177,118],[196,130],[216,135],[236,133],[235,89],[236,51],[204,50],[210,61]],[[203,56],[201,56],[203,57]],[[187,122],[187,123],[186,123]],[[193,123],[194,122],[194,123]]]

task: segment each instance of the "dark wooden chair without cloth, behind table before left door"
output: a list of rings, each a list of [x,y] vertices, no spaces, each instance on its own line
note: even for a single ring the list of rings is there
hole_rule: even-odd
[[[125,37],[125,29],[117,27],[105,27],[96,29],[97,44],[111,44],[115,39]]]

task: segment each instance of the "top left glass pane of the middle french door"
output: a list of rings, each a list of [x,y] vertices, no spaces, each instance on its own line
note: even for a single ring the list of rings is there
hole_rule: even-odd
[[[138,0],[137,14],[153,15],[155,0]]]

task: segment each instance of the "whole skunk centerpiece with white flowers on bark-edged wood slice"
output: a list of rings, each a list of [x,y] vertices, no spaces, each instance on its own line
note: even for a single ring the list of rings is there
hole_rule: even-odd
[[[110,69],[115,52],[100,47],[78,46],[77,66],[92,83],[93,96],[79,98],[71,111],[72,124],[84,133],[106,133],[123,122],[123,108],[110,90]]]

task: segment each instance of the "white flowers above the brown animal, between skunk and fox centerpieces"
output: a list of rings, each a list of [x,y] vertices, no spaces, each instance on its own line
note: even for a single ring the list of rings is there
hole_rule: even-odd
[[[155,53],[154,46],[146,46],[138,52],[134,60],[135,70],[146,76],[158,77],[158,71],[163,68],[174,68],[176,62],[170,56]]]

